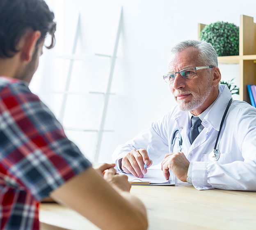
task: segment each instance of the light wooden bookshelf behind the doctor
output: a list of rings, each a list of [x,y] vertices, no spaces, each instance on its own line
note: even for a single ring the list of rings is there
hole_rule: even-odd
[[[198,38],[205,24],[198,24]],[[256,23],[254,18],[240,15],[239,55],[220,56],[218,63],[240,65],[240,100],[250,103],[248,84],[256,84]]]

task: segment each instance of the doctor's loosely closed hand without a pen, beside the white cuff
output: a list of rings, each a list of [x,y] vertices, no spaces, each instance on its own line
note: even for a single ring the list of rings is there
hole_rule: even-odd
[[[190,162],[185,157],[184,153],[168,153],[165,155],[162,161],[162,171],[165,179],[169,179],[169,169],[175,174],[181,181],[187,182],[187,171]]]

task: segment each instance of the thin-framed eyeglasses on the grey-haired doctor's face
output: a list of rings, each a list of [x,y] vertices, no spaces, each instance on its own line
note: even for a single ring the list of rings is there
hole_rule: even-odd
[[[173,73],[168,73],[163,76],[165,82],[169,81],[174,81],[176,74],[180,73],[181,77],[184,79],[191,79],[196,75],[196,70],[204,70],[204,69],[209,69],[209,68],[214,68],[213,65],[207,65],[207,66],[197,66],[197,67],[190,67],[186,68],[184,70],[180,70],[178,72],[173,72]]]

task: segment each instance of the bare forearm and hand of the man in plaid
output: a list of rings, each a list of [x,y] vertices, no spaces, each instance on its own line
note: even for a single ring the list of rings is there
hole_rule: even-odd
[[[71,207],[101,229],[146,229],[146,209],[129,193],[127,176],[116,174],[116,170],[110,168],[104,178],[90,167],[54,190],[50,197]]]

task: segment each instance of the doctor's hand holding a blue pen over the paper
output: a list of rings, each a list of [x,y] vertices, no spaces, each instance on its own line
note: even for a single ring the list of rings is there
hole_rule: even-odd
[[[122,170],[138,178],[143,178],[147,173],[144,164],[147,165],[147,168],[152,165],[152,160],[149,159],[146,149],[133,149],[121,161]]]

